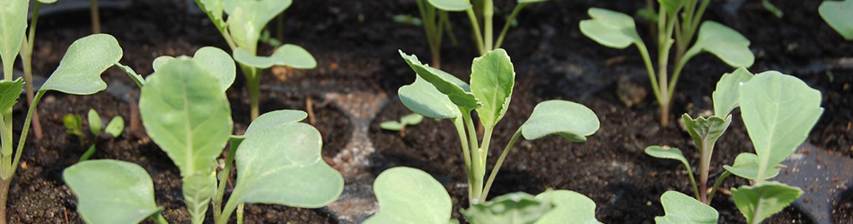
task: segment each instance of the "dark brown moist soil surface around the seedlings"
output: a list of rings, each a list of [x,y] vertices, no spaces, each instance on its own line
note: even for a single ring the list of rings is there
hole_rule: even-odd
[[[742,2],[743,4],[732,3]],[[817,13],[821,1],[778,1],[785,12],[774,17],[761,1],[714,2],[705,20],[722,22],[739,30],[752,41],[756,55],[752,72],[778,70],[796,75],[823,94],[824,114],[808,142],[850,157],[853,151],[853,65],[841,60],[853,56],[853,43],[841,39],[822,22]],[[152,73],[151,62],[157,56],[192,55],[204,46],[227,48],[213,24],[201,13],[191,12],[192,1],[135,0],[125,10],[101,12],[101,30],[114,35],[124,48],[121,63],[137,73]],[[514,1],[498,0],[500,18],[511,12]],[[699,153],[689,135],[678,127],[675,116],[689,113],[706,115],[712,110],[710,94],[723,73],[734,69],[708,54],[693,58],[683,71],[676,93],[671,124],[658,125],[654,97],[638,98],[631,107],[620,100],[620,90],[633,86],[635,91],[650,91],[642,59],[634,47],[611,49],[585,38],[578,22],[588,18],[589,7],[602,7],[623,13],[642,8],[642,1],[553,0],[527,6],[519,15],[518,26],[511,29],[504,48],[513,58],[516,84],[512,104],[497,125],[489,151],[494,164],[500,150],[515,129],[530,115],[538,102],[566,99],[592,108],[601,120],[601,129],[584,143],[572,143],[559,137],[537,141],[519,141],[497,177],[491,196],[511,192],[539,194],[567,189],[585,194],[597,205],[596,217],[605,223],[653,223],[663,215],[660,195],[667,190],[690,192],[690,181],[676,161],[654,159],[642,150],[661,144],[681,148],[691,163]],[[408,166],[424,169],[445,184],[453,197],[453,216],[466,207],[467,196],[459,139],[449,121],[425,119],[420,125],[399,133],[384,132],[379,122],[409,114],[396,97],[397,89],[414,80],[414,73],[397,53],[402,49],[427,61],[429,50],[423,29],[391,20],[396,14],[417,14],[414,1],[295,1],[286,11],[283,42],[306,48],[317,58],[318,66],[309,71],[272,69],[264,74],[261,111],[306,108],[312,99],[314,124],[323,134],[323,156],[334,157],[349,141],[351,125],[347,116],[324,102],[323,93],[357,91],[385,92],[391,103],[380,112],[370,128],[376,152],[369,171],[378,175],[385,168]],[[34,72],[47,76],[58,65],[65,49],[75,39],[90,33],[88,12],[50,15],[40,19],[36,37]],[[452,13],[458,46],[449,41],[443,48],[442,68],[468,80],[471,59],[476,49],[467,35],[469,23],[463,14]],[[275,27],[275,21],[270,23]],[[638,20],[638,29],[648,39],[646,22]],[[276,34],[273,29],[274,35]],[[652,41],[646,41],[651,43]],[[649,46],[649,48],[655,48]],[[271,53],[264,47],[261,54]],[[653,56],[655,52],[652,52]],[[124,73],[110,69],[103,75],[108,83],[120,82],[136,89]],[[248,93],[242,76],[228,97],[232,102],[235,133],[249,124]],[[627,83],[627,84],[620,84]],[[635,94],[629,94],[635,95]],[[651,95],[648,93],[647,95]],[[96,109],[104,118],[130,116],[130,103],[101,92],[92,96],[48,94],[39,112],[44,138],[29,138],[21,167],[14,179],[9,198],[9,219],[13,223],[82,223],[76,214],[76,200],[62,181],[62,170],[73,165],[91,142],[81,142],[65,133],[62,116],[84,116]],[[15,110],[15,124],[22,124],[25,107]],[[16,132],[20,132],[18,127]],[[15,136],[17,138],[17,136]],[[92,138],[90,138],[92,139]],[[144,134],[125,134],[115,140],[98,139],[98,151],[92,159],[120,159],[145,168],[154,179],[157,204],[172,223],[189,223],[180,194],[180,173],[166,154]],[[734,122],[717,143],[711,166],[711,180],[731,164],[735,155],[753,151],[738,112]],[[490,168],[489,168],[490,170]],[[728,189],[748,183],[736,177],[725,180]],[[850,194],[836,202],[835,223],[853,223]],[[720,223],[745,223],[731,197],[719,194],[712,204],[720,211]],[[210,212],[208,212],[209,215]],[[246,223],[336,223],[321,210],[295,209],[277,205],[249,205]],[[212,219],[208,219],[210,221]],[[765,223],[809,223],[805,215],[792,208]]]

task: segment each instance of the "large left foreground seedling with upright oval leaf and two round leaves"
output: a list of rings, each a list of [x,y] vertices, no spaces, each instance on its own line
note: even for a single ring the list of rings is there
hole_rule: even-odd
[[[238,207],[247,202],[318,208],[336,200],[343,190],[343,177],[321,159],[320,133],[299,123],[304,112],[269,112],[255,119],[245,134],[232,135],[225,90],[233,83],[235,71],[223,50],[202,47],[193,57],[159,57],[154,74],[144,82],[135,79],[142,86],[143,125],[180,169],[192,223],[204,222],[211,201],[215,223],[224,224],[234,211],[241,220]],[[224,169],[217,174],[216,158],[228,142]],[[234,162],[239,175],[223,207],[224,187]],[[146,218],[167,223],[154,203],[151,177],[138,165],[89,160],[66,168],[63,178],[77,196],[77,212],[87,223],[137,223]]]

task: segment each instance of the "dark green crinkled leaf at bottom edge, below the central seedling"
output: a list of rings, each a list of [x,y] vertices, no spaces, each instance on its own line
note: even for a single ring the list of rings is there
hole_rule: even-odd
[[[474,203],[462,214],[471,224],[532,224],[554,208],[523,192],[497,196],[485,203]]]

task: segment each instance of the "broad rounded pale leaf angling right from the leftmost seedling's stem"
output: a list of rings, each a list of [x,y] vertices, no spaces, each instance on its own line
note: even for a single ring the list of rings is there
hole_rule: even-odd
[[[92,34],[77,39],[68,47],[57,70],[41,85],[40,91],[57,90],[89,95],[107,89],[101,73],[119,62],[119,41],[109,34]]]

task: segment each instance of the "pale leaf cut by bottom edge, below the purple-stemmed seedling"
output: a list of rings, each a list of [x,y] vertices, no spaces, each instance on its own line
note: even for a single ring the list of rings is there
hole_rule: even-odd
[[[655,217],[657,224],[717,224],[719,213],[708,204],[676,191],[661,195],[664,216]]]

